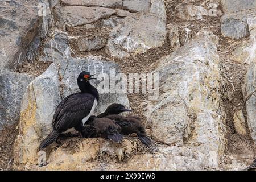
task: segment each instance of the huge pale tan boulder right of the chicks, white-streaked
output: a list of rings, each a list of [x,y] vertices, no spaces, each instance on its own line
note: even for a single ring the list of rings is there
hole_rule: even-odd
[[[160,142],[200,151],[201,166],[217,168],[224,154],[218,39],[199,32],[159,61],[159,97],[148,103],[147,126]],[[197,154],[195,154],[197,155]]]

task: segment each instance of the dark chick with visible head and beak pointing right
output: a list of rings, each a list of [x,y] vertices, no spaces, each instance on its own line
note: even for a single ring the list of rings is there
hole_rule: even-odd
[[[122,115],[118,115],[124,111],[131,110],[125,109],[125,106],[122,104],[114,103],[108,106],[105,112],[101,113],[97,117],[104,117],[115,121],[115,123],[121,127],[121,134],[129,135],[136,133],[142,143],[146,144],[146,146],[150,146],[152,144],[152,140],[147,137],[146,130],[141,122],[141,119],[137,116],[124,117]]]

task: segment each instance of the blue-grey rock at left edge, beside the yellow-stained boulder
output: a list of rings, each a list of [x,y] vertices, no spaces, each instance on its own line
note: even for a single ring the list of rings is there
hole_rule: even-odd
[[[20,105],[27,85],[34,76],[0,71],[0,129],[3,125],[12,125],[19,120]]]

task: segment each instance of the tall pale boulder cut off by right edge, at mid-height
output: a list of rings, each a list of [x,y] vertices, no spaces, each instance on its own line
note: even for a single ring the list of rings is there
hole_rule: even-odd
[[[256,62],[251,63],[247,70],[243,96],[246,101],[248,127],[256,144]]]

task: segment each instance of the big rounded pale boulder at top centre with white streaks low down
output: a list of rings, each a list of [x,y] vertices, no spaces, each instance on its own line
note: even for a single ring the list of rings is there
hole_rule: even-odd
[[[160,47],[166,40],[166,32],[164,3],[162,0],[152,0],[148,11],[127,16],[122,24],[110,32],[106,53],[122,59]]]

